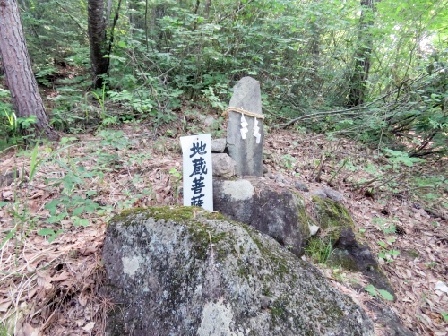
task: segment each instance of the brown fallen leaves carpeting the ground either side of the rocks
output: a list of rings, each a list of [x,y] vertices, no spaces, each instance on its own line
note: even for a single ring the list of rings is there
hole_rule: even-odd
[[[128,137],[133,137],[132,126],[124,125],[122,129]],[[316,160],[325,149],[336,149],[332,152],[336,163],[347,157],[367,162],[372,156],[370,151],[349,140],[336,145],[324,136],[310,139],[284,130],[273,132],[265,140],[265,151],[270,152],[265,163],[273,173],[282,170],[289,181],[297,178],[303,181],[312,176]],[[98,144],[99,138],[90,134],[80,135],[79,141],[70,147],[70,152],[58,153],[59,159],[64,159],[65,154],[71,160],[82,159],[82,167],[86,171],[94,170],[99,158],[92,158],[89,143]],[[142,155],[148,153],[151,153],[151,159]],[[123,209],[125,202],[127,206],[141,207],[182,204],[182,194],[179,194],[181,181],[175,174],[170,174],[172,169],[181,170],[177,139],[143,138],[138,146],[113,154],[121,162],[119,167],[101,170],[103,175],[92,176],[90,183],[82,186],[86,189],[82,193],[90,193],[92,201],[109,207],[107,216],[92,214],[87,217],[89,226],[86,228],[74,228],[73,220],[68,218],[56,224],[46,222],[50,214],[44,206],[60,197],[62,186],[56,182],[65,177],[65,170],[59,165],[46,160],[36,171],[32,185],[20,185],[17,181],[27,181],[30,158],[9,153],[7,159],[0,160],[0,168],[17,168],[20,174],[13,185],[0,188],[0,202],[20,200],[21,209],[26,207],[30,213],[30,221],[22,223],[26,229],[22,232],[18,225],[20,221],[13,213],[0,207],[0,243],[11,230],[16,230],[0,253],[0,319],[12,325],[15,335],[90,335],[104,332],[111,303],[99,295],[99,287],[104,280],[100,257],[108,216]],[[285,171],[282,166],[285,154],[296,159],[294,171]],[[141,159],[130,159],[124,165],[123,159],[132,156]],[[323,180],[331,177],[332,170],[326,169],[323,168]],[[404,232],[394,236],[393,249],[400,251],[400,256],[393,263],[383,265],[397,297],[396,302],[388,303],[389,307],[416,334],[448,334],[448,323],[442,315],[448,312],[448,295],[440,284],[448,282],[446,222],[431,217],[423,208],[416,208],[414,203],[402,197],[381,194],[375,199],[366,197],[354,190],[349,182],[354,175],[366,180],[372,178],[363,171],[341,170],[333,183],[346,197],[344,205],[353,216],[359,237],[369,243],[373,253],[380,251],[376,242],[385,241],[387,237],[373,222],[374,218],[400,225]],[[306,185],[311,190],[322,187],[314,181],[306,181]],[[306,203],[311,202],[306,199]],[[55,231],[64,228],[64,232],[49,243],[37,234],[40,228]],[[363,288],[368,285],[368,280],[359,274],[323,271],[336,289],[366,308],[365,303],[371,297],[364,290],[354,289],[349,279],[356,280]],[[375,332],[382,334],[379,327]]]

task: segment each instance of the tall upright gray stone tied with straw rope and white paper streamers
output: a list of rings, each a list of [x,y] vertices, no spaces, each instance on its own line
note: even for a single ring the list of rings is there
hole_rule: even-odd
[[[263,115],[260,82],[252,77],[243,77],[233,88],[233,96],[228,104],[227,145],[228,155],[237,162],[237,176],[263,177],[263,119],[256,118],[260,127],[260,143],[254,136],[254,116],[245,115],[248,132],[246,139],[241,136],[241,113],[231,108]]]

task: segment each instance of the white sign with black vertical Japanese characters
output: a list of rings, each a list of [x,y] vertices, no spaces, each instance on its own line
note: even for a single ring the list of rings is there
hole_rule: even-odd
[[[184,205],[213,211],[211,135],[181,136]]]

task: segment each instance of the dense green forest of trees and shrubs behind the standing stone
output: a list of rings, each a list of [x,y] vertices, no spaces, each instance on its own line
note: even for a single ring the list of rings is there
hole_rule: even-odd
[[[203,109],[220,116],[250,75],[262,84],[268,127],[349,136],[408,166],[445,157],[447,1],[18,4],[57,131],[142,121],[156,130]],[[15,116],[5,85],[0,109],[2,147],[26,142],[20,131],[35,117]],[[445,182],[415,173],[420,186]]]

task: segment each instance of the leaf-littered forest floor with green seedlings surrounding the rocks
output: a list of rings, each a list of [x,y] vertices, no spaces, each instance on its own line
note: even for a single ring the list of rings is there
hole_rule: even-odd
[[[225,136],[224,126],[216,125],[224,121],[215,118],[207,128],[203,119],[187,120],[181,113],[176,122],[158,129],[127,124],[0,154],[0,173],[14,172],[12,184],[0,179],[0,335],[104,333],[113,306],[99,295],[108,220],[129,207],[182,204],[178,137],[207,131],[214,138]],[[357,187],[384,164],[384,158],[374,159],[375,151],[357,142],[273,130],[266,134],[264,150],[265,165],[291,185],[301,181],[313,190],[332,179],[332,187],[345,197],[358,237],[375,255],[387,255],[381,267],[397,299],[385,304],[415,334],[447,335],[448,294],[440,283],[448,285],[446,208],[429,213],[410,194]],[[316,163],[322,155],[328,159],[318,183]],[[337,168],[345,159],[351,165]],[[426,162],[418,168],[446,177],[446,163]],[[361,306],[373,299],[357,286],[368,282],[361,275],[317,266]],[[375,331],[384,334],[379,324]]]

